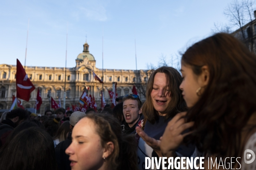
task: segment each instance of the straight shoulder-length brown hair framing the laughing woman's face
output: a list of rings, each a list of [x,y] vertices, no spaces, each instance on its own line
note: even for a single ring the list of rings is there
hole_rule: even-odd
[[[166,114],[165,119],[169,119],[170,117],[175,116],[179,112],[186,111],[186,102],[182,97],[182,91],[179,86],[182,82],[182,77],[180,73],[172,67],[160,67],[157,68],[149,77],[147,84],[147,92],[146,92],[146,101],[143,104],[142,113],[145,117],[145,120],[154,124],[154,122],[159,118],[158,112],[154,109],[151,92],[153,90],[154,77],[157,73],[164,73],[167,79],[167,85],[169,89],[169,93],[171,95],[171,101],[164,111]]]

